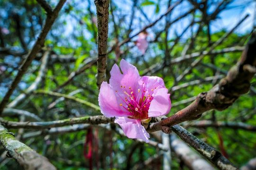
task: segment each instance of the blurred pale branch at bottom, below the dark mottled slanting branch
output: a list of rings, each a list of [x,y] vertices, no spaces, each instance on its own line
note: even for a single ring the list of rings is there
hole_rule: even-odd
[[[174,134],[171,135],[171,147],[190,170],[215,170],[208,161],[202,159],[198,153],[192,150],[182,140],[178,139]]]

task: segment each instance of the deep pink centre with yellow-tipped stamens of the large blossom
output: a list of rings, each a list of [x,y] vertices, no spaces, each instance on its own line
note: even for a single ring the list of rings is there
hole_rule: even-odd
[[[122,86],[125,90],[125,96],[119,97],[125,102],[125,104],[120,104],[126,110],[132,113],[132,116],[128,117],[130,119],[148,119],[148,109],[151,101],[153,100],[152,95],[146,95],[145,83],[142,84],[141,89],[137,90],[137,94],[133,91],[131,87],[128,89],[125,86]],[[151,91],[154,91],[151,89]],[[118,91],[116,91],[118,92]]]

